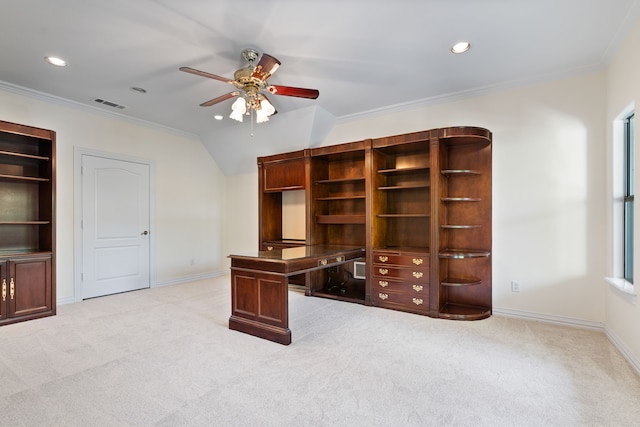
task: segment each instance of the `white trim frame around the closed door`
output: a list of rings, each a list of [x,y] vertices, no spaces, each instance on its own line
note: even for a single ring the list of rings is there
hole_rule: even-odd
[[[73,301],[82,301],[82,156],[102,157],[109,160],[142,163],[149,167],[149,287],[155,288],[156,282],[156,169],[151,159],[126,156],[73,147]],[[61,222],[61,221],[58,221]]]

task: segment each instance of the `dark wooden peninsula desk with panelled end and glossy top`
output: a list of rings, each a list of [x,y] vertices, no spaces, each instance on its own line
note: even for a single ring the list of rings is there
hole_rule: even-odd
[[[313,245],[229,255],[229,329],[291,344],[287,278],[357,260],[364,254],[362,247]]]

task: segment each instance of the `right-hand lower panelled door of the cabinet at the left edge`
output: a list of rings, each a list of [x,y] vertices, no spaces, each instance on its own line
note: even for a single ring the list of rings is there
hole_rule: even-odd
[[[13,258],[7,276],[7,317],[52,311],[51,256]]]

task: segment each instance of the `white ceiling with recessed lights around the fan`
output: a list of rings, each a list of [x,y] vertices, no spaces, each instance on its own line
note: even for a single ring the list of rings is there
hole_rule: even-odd
[[[640,17],[639,3],[0,0],[0,81],[107,111],[113,110],[92,100],[124,105],[119,114],[200,135],[223,169],[233,172],[229,165],[246,150],[232,144],[217,150],[213,135],[246,135],[248,123],[227,118],[231,100],[198,106],[232,86],[179,67],[231,78],[245,65],[243,48],[275,56],[282,65],[271,84],[320,91],[316,100],[271,97],[278,115],[266,125],[302,123],[302,148],[325,135],[332,119],[602,68]],[[472,49],[451,54],[451,45],[462,39]],[[46,55],[69,65],[48,65]],[[303,111],[321,118],[299,119]],[[215,114],[225,119],[215,121]]]

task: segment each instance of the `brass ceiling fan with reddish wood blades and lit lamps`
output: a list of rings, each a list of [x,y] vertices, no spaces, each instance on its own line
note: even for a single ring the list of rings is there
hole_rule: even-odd
[[[235,86],[237,89],[203,102],[200,104],[201,107],[210,107],[238,96],[239,98],[231,106],[232,113],[230,117],[241,122],[244,114],[255,111],[256,122],[261,123],[269,120],[269,116],[276,112],[271,102],[267,99],[267,93],[309,99],[316,99],[320,95],[320,92],[316,89],[270,85],[268,83],[269,77],[271,77],[280,66],[280,61],[271,55],[263,53],[255,66],[253,63],[258,59],[258,52],[256,50],[244,49],[242,51],[242,57],[249,62],[249,65],[237,70],[233,75],[233,80],[191,67],[180,67],[180,71],[226,82]]]

